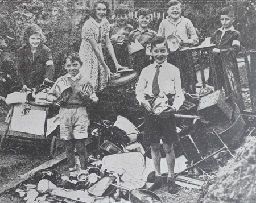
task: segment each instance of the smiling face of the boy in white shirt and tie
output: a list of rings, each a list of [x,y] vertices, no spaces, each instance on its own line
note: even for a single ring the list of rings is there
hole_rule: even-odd
[[[156,63],[158,64],[162,64],[164,61],[166,61],[168,53],[168,49],[164,43],[156,44],[151,49],[151,55],[154,57]]]

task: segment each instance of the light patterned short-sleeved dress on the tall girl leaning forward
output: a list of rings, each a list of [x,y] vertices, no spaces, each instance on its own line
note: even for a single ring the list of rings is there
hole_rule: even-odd
[[[97,23],[94,18],[90,18],[82,27],[82,43],[79,50],[79,56],[82,61],[81,73],[90,76],[92,85],[96,92],[102,92],[108,82],[108,74],[105,73],[100,61],[95,55],[89,39],[95,39],[98,49],[101,52],[102,58],[102,39],[109,35],[109,22],[107,19],[102,19],[101,23]]]

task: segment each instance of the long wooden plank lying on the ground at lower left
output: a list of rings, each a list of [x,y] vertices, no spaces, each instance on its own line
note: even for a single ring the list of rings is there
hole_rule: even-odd
[[[5,185],[1,185],[0,194],[5,192],[6,190],[16,187],[16,185],[18,185],[18,184],[24,182],[25,180],[27,180],[30,177],[30,174],[33,174],[36,171],[39,171],[40,169],[52,167],[53,165],[56,165],[60,161],[64,160],[65,158],[66,158],[66,154],[64,152],[63,154],[56,156],[54,159],[51,159],[51,160],[47,161],[46,163],[39,165],[39,167],[36,167],[36,168],[32,169],[31,171],[17,177],[15,180],[10,181],[9,183],[7,183]]]

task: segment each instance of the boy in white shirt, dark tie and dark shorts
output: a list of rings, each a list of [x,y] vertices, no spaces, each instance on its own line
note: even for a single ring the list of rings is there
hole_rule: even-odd
[[[168,47],[163,36],[152,39],[151,55],[155,62],[142,70],[136,87],[136,98],[139,104],[147,110],[144,138],[151,144],[156,174],[154,190],[162,187],[160,172],[160,139],[162,139],[168,165],[168,192],[175,194],[177,193],[177,187],[174,179],[175,154],[173,143],[177,142],[178,138],[174,113],[183,104],[184,94],[181,89],[179,69],[166,61]],[[157,115],[154,113],[151,101],[155,97],[164,97],[165,95],[169,98],[169,109],[164,112],[164,116]]]

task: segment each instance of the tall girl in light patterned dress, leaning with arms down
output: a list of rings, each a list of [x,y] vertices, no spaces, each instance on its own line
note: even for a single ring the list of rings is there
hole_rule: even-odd
[[[83,63],[81,73],[90,76],[96,92],[102,92],[112,74],[104,61],[101,47],[103,40],[106,42],[106,47],[114,61],[116,70],[126,68],[118,64],[109,39],[110,27],[108,20],[105,18],[109,12],[107,2],[95,1],[90,14],[92,18],[88,19],[82,27],[82,43],[79,50],[79,56]]]

